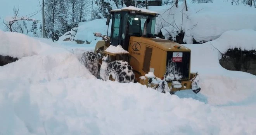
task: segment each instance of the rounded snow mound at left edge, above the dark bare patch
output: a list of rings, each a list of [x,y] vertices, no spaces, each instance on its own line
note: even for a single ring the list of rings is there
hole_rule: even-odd
[[[0,55],[17,57],[37,55],[50,46],[38,40],[16,32],[0,30]]]

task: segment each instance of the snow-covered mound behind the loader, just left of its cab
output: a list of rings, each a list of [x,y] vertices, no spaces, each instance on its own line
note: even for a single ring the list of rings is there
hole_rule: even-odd
[[[95,37],[93,32],[100,32],[102,35],[107,35],[107,19],[96,19],[88,22],[80,22],[78,24],[77,33],[75,36],[75,40],[82,40],[93,42],[101,37]],[[110,21],[111,24],[111,21]],[[109,25],[109,34],[110,35],[111,25]]]

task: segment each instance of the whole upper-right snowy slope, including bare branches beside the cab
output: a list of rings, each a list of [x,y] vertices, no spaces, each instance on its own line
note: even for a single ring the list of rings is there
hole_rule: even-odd
[[[149,7],[161,15],[156,19],[155,34],[160,30],[166,39],[175,36],[181,31],[185,32],[183,42],[192,44],[217,39],[228,30],[254,29],[256,30],[255,8],[234,6],[230,3],[201,3],[185,4],[170,9],[170,5]],[[178,32],[177,32],[178,31]]]

